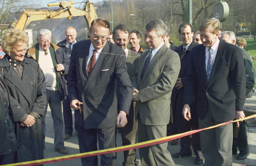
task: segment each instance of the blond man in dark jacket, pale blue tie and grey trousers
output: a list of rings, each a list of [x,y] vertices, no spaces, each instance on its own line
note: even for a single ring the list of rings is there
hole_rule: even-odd
[[[190,105],[197,105],[199,128],[240,119],[244,115],[246,76],[241,50],[218,38],[219,21],[199,26],[201,45],[190,53],[186,75],[183,116],[191,119]],[[205,166],[232,166],[232,123],[200,132]]]

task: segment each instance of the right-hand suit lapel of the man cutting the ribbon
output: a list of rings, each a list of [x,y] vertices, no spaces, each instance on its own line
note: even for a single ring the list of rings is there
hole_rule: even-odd
[[[89,85],[94,81],[95,77],[98,77],[100,74],[100,71],[102,70],[102,67],[104,66],[104,64],[107,62],[105,60],[105,57],[109,54],[109,45],[106,44],[103,49],[101,50],[101,53],[98,57],[97,62],[95,63],[95,66],[93,67],[93,70],[87,80],[87,82],[85,83],[85,87],[83,92],[89,87]],[[87,58],[88,59],[88,58]],[[86,61],[87,62],[87,61]],[[87,71],[86,71],[87,73]],[[87,73],[88,75],[88,73]]]

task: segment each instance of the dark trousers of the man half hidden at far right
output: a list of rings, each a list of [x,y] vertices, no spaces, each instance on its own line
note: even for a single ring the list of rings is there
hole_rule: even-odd
[[[236,123],[233,123],[233,129],[235,130]],[[246,135],[245,121],[240,123],[237,138],[233,139],[232,154],[237,154],[237,148],[240,155],[249,155],[249,146]]]

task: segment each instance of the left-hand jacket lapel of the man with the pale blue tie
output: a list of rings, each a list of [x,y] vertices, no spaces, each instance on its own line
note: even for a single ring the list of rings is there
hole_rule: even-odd
[[[195,57],[198,62],[198,67],[201,73],[201,77],[203,79],[203,82],[205,86],[207,86],[207,75],[206,75],[206,69],[205,69],[205,47],[201,45],[199,48],[198,56]]]

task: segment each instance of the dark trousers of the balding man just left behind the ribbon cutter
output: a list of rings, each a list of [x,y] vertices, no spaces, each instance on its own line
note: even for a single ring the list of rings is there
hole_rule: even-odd
[[[62,101],[63,107],[63,119],[65,124],[65,134],[73,133],[73,118],[72,118],[72,110],[70,108],[70,101],[67,95],[67,98]],[[75,130],[77,131],[77,126],[75,123]]]

